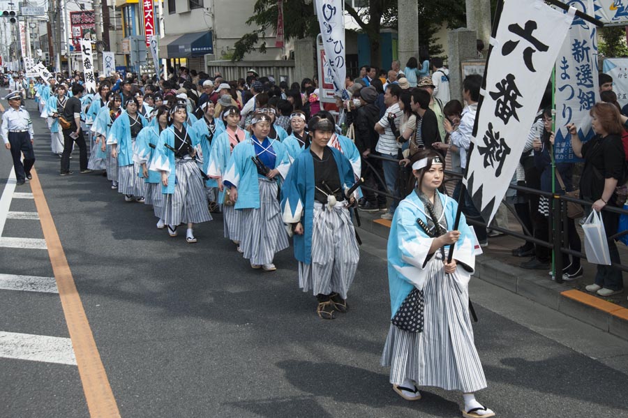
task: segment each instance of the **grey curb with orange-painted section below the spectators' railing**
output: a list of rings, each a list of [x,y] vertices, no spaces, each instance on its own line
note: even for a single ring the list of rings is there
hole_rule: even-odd
[[[373,219],[362,223],[361,228],[387,239],[390,221]],[[474,277],[628,341],[627,308],[572,289],[569,285],[556,283],[550,276],[533,274],[530,270],[511,266],[486,254],[477,258]]]

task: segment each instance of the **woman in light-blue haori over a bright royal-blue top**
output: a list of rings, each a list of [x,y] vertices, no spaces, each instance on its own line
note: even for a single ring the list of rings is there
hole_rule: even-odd
[[[290,168],[283,144],[270,140],[271,119],[255,112],[253,135],[237,144],[227,164],[223,185],[230,200],[241,210],[240,248],[253,269],[275,271],[275,254],[288,247],[278,201],[279,182]]]

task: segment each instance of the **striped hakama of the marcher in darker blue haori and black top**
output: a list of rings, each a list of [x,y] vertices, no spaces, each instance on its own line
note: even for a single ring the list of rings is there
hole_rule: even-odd
[[[314,294],[336,292],[347,299],[347,291],[360,259],[355,231],[345,202],[333,209],[314,203],[312,264],[299,262],[299,288]]]

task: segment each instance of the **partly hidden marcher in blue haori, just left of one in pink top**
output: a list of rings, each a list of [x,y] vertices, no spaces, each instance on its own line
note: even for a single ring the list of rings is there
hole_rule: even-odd
[[[198,163],[200,170],[207,174],[207,167],[209,165],[209,158],[211,156],[211,149],[213,148],[213,143],[216,137],[220,135],[222,128],[218,124],[218,121],[214,117],[214,102],[211,100],[207,100],[207,102],[201,105],[201,110],[203,111],[203,117],[198,119],[192,129],[195,134],[200,137],[200,144],[197,146],[197,158],[196,162]],[[216,180],[214,179],[206,179],[205,180],[205,191],[207,192],[207,199],[209,200],[210,206],[217,208],[216,206],[216,193],[215,188],[218,186],[216,184]],[[213,210],[213,209],[212,209]]]

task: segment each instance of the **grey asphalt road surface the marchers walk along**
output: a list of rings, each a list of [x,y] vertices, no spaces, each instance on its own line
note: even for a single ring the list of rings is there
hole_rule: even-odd
[[[320,320],[297,286],[292,249],[277,255],[276,272],[254,271],[223,238],[220,214],[197,227],[197,244],[168,237],[149,207],[78,174],[76,152],[76,174],[59,177],[47,128],[32,116],[38,177],[122,417],[461,416],[459,394],[426,388],[404,401],[379,366],[390,309],[383,239],[361,232],[350,311]],[[10,166],[1,152],[0,193]],[[9,210],[36,207],[13,195]],[[45,249],[8,247],[6,237],[43,238],[28,217],[13,214],[0,230],[0,278],[53,276]],[[477,397],[498,417],[628,417],[628,343],[488,283],[470,289],[489,385]],[[15,334],[60,345],[16,359]],[[68,337],[59,294],[0,285],[0,417],[90,416]],[[70,364],[51,362],[59,358]]]

